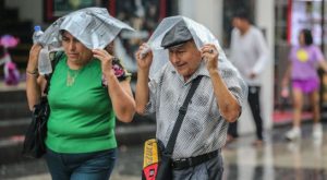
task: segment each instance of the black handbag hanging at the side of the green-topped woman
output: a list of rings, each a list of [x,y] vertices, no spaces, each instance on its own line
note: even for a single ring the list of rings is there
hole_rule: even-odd
[[[50,115],[50,107],[47,96],[41,97],[38,105],[32,111],[32,122],[25,133],[23,155],[32,158],[39,158],[46,153],[45,139],[47,135],[47,121]]]

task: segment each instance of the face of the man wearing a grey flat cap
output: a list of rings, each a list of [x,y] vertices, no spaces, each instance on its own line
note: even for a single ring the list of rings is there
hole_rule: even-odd
[[[198,68],[202,59],[193,40],[168,49],[169,60],[179,74],[187,80]]]

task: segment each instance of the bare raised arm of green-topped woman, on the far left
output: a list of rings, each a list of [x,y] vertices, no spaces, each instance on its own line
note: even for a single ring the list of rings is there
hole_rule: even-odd
[[[29,110],[33,110],[34,106],[39,103],[41,96],[40,84],[44,82],[44,77],[38,75],[37,72],[38,55],[40,49],[40,45],[32,46],[26,68],[26,95]]]

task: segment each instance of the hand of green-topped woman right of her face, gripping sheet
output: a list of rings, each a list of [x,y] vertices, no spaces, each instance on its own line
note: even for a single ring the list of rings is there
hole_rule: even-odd
[[[93,56],[101,61],[102,74],[106,77],[114,75],[114,71],[112,70],[112,60],[114,57],[112,55],[104,49],[94,49]]]

